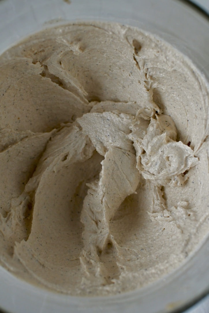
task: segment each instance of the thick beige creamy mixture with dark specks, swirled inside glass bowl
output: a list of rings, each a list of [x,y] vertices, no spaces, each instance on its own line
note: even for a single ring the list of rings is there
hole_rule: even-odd
[[[76,23],[0,57],[0,263],[72,295],[143,287],[208,233],[208,87],[142,30]]]

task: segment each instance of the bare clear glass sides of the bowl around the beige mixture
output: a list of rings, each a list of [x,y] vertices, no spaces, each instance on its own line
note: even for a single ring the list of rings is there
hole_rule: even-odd
[[[159,35],[209,81],[209,18],[178,0],[0,0],[0,53],[30,33],[75,20],[129,24]],[[182,312],[209,292],[209,238],[180,268],[146,288],[108,297],[72,297],[30,285],[0,267],[0,307],[13,313]]]

